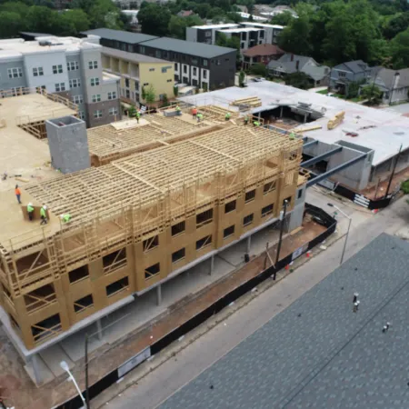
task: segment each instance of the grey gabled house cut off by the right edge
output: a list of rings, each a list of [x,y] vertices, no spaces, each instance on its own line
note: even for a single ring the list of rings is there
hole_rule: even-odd
[[[390,70],[376,67],[368,85],[376,85],[383,92],[383,103],[394,104],[409,99],[409,68]]]

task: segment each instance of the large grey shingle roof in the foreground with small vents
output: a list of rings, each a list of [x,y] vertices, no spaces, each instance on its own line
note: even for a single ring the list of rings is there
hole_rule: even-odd
[[[160,408],[407,409],[408,258],[377,237]]]

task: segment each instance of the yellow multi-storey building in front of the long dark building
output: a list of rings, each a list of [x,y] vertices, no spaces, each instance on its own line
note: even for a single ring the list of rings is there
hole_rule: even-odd
[[[145,105],[143,88],[147,90],[151,85],[156,102],[163,100],[165,95],[174,96],[175,70],[169,61],[103,47],[102,65],[105,72],[121,77],[120,96],[126,103]]]

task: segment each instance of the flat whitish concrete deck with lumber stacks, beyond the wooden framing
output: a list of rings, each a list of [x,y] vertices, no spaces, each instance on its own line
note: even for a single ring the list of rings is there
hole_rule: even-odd
[[[322,125],[321,129],[309,131],[308,137],[327,144],[334,144],[342,140],[374,150],[374,166],[396,155],[401,144],[403,150],[409,148],[409,118],[389,110],[375,109],[272,81],[248,83],[244,88],[232,86],[179,99],[197,106],[213,104],[234,109],[230,106],[231,102],[251,96],[258,96],[262,101],[262,106],[251,110],[253,114],[273,110],[280,105],[311,104],[312,109],[322,112],[324,116],[307,124]],[[333,130],[328,130],[328,121],[341,111],[345,112],[343,123]],[[305,126],[300,124],[295,129],[303,129]],[[354,137],[347,135],[349,132],[358,135]]]

